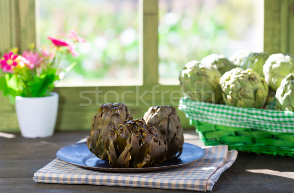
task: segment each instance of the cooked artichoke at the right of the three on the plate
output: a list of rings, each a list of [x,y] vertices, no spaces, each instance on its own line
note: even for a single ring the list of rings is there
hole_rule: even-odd
[[[177,158],[183,151],[184,133],[175,107],[150,107],[144,114],[147,124],[156,127],[167,141],[167,159]],[[177,155],[175,155],[179,152]]]

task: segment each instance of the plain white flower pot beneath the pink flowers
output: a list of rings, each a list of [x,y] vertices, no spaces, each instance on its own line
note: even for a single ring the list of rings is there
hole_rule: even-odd
[[[58,94],[46,97],[15,97],[17,120],[23,137],[53,135],[58,111]]]

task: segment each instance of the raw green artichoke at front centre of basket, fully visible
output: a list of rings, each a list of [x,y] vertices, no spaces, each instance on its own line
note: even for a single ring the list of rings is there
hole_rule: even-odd
[[[269,86],[264,78],[252,69],[234,68],[220,79],[222,99],[226,105],[235,107],[264,107]]]

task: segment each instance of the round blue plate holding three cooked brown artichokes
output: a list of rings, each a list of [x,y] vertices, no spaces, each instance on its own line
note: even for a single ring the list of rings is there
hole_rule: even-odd
[[[205,154],[204,150],[192,144],[184,143],[183,148],[182,154],[177,159],[169,160],[157,167],[150,168],[112,168],[109,165],[109,161],[101,160],[91,153],[86,142],[66,146],[58,150],[56,155],[59,159],[65,162],[90,170],[109,172],[145,172],[180,167],[195,162]]]

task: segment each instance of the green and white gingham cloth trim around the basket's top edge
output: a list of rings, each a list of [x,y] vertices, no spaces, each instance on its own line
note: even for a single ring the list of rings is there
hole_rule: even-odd
[[[196,121],[238,128],[294,133],[294,112],[233,107],[181,98],[179,109]]]

